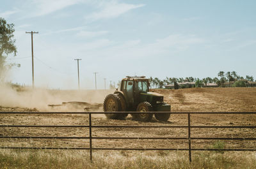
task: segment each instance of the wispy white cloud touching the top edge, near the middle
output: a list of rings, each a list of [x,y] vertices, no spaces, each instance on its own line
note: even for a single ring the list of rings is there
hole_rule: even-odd
[[[101,3],[99,8],[100,11],[93,12],[92,14],[86,16],[86,20],[99,20],[106,18],[118,17],[127,11],[140,8],[145,6],[145,4],[125,4],[118,3],[117,1],[110,1],[108,3]]]

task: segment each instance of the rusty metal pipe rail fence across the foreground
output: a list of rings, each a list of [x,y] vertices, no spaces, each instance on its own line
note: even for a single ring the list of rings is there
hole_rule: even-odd
[[[124,113],[124,112],[115,112]],[[144,112],[143,112],[144,113]],[[145,112],[150,114],[152,112]],[[157,112],[159,114],[166,114],[166,112]],[[188,151],[189,161],[191,162],[191,151],[256,151],[256,149],[193,149],[191,148],[191,140],[256,140],[253,138],[243,137],[191,137],[191,128],[256,128],[256,126],[191,126],[191,115],[193,114],[253,114],[256,112],[172,112],[172,114],[187,114],[188,115],[188,126],[102,126],[92,125],[92,114],[113,114],[113,112],[0,112],[0,114],[88,114],[89,125],[1,125],[0,127],[10,128],[89,128],[89,136],[3,136],[0,138],[52,138],[52,139],[89,139],[89,147],[0,147],[0,149],[70,149],[70,150],[89,150],[90,160],[92,161],[93,150],[124,150],[124,151]],[[138,114],[138,112],[129,112],[129,114]],[[147,124],[147,123],[145,123]],[[92,128],[188,128],[187,137],[97,137],[92,136]],[[153,140],[188,140],[188,148],[185,149],[163,149],[163,148],[109,148],[109,147],[93,147],[93,139],[153,139]]]

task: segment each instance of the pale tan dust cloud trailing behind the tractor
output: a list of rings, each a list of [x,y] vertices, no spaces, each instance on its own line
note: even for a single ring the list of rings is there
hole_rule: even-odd
[[[93,112],[102,111],[102,103],[113,90],[50,90],[44,88],[13,87],[0,84],[0,107],[36,108],[38,111],[76,111],[93,108]],[[68,104],[63,104],[66,102]],[[80,106],[70,102],[86,102]],[[58,105],[49,107],[49,105]]]

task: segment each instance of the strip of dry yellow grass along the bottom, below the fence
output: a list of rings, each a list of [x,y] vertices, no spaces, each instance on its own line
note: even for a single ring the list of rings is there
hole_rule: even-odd
[[[86,151],[0,152],[0,168],[255,168],[255,152],[195,152],[192,163],[187,152],[93,152]]]

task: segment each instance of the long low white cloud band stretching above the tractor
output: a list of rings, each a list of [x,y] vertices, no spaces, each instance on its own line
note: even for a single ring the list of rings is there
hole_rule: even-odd
[[[140,40],[129,40],[122,43],[109,40],[101,41],[101,43],[95,41],[95,43],[90,43],[89,46],[84,45],[84,47],[87,47],[83,48],[81,51],[83,51],[82,53],[84,54],[88,54],[88,50],[90,50],[89,55],[104,58],[106,61],[115,61],[120,58],[120,56],[122,56],[122,58],[129,58],[130,60],[147,60],[150,59],[150,57],[160,57],[176,54],[177,52],[184,52],[204,42],[204,39],[198,38],[195,35],[173,34],[158,39],[153,43],[146,44],[141,43]],[[101,45],[97,45],[98,43]]]

